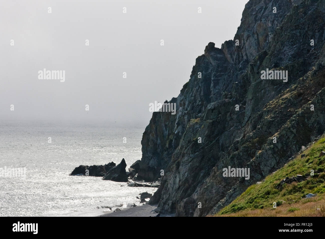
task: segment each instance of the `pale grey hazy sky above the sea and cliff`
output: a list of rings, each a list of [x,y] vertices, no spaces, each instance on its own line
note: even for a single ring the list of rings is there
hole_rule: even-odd
[[[146,125],[209,42],[234,38],[247,1],[1,0],[0,119]],[[65,81],[38,79],[44,68]]]

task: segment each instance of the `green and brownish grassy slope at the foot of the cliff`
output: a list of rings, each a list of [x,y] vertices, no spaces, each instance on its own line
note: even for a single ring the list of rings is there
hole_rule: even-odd
[[[305,157],[299,154],[262,183],[250,186],[214,216],[325,216],[325,156],[319,157],[321,151],[325,151],[325,135],[302,153]],[[319,173],[310,176],[311,169]],[[308,180],[284,183],[276,189],[282,179],[297,174]],[[308,193],[317,196],[304,198]],[[273,202],[277,208],[273,208]]]

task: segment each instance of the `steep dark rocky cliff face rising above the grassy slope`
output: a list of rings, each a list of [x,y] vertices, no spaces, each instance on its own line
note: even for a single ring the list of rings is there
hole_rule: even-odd
[[[177,216],[216,212],[325,131],[324,17],[321,0],[251,0],[234,39],[206,46],[170,101],[176,114],[153,113],[143,134],[139,175],[164,170],[149,203]],[[261,79],[266,69],[288,81]],[[250,168],[250,179],[223,177],[228,166]]]

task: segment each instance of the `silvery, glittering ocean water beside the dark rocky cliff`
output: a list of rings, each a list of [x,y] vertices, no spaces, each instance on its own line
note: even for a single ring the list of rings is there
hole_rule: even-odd
[[[109,207],[139,203],[139,193],[156,191],[101,177],[69,176],[79,165],[118,164],[122,158],[128,170],[141,159],[145,126],[0,123],[0,168],[26,168],[25,178],[0,176],[0,216],[97,216]]]

